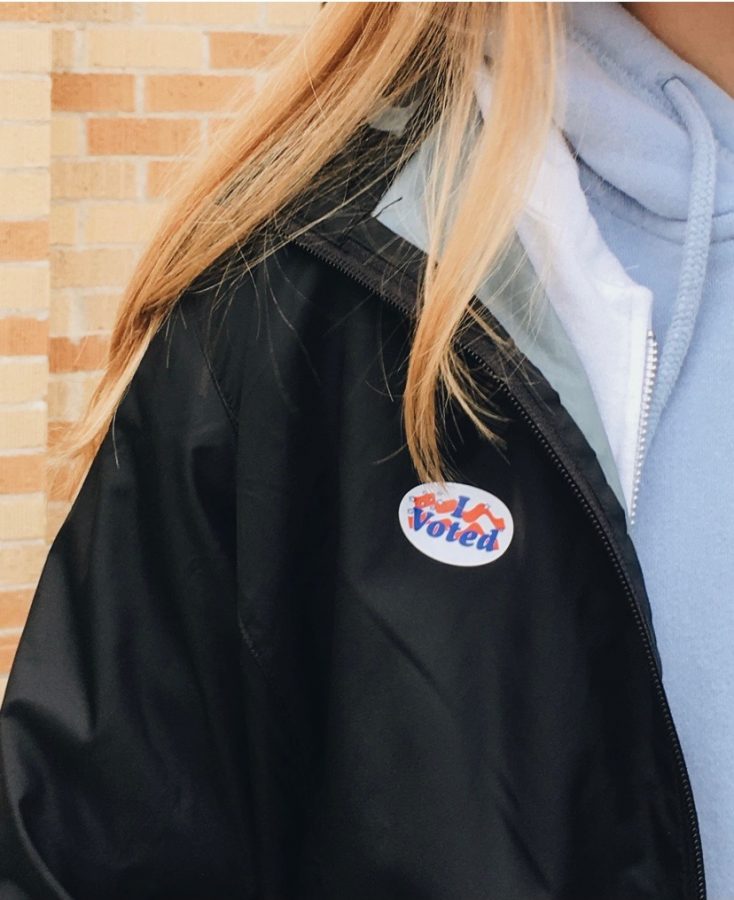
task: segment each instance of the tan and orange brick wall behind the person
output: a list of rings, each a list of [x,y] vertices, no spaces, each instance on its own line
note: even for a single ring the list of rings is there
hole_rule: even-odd
[[[319,7],[0,3],[0,694],[69,508],[49,435],[96,384],[166,184]]]

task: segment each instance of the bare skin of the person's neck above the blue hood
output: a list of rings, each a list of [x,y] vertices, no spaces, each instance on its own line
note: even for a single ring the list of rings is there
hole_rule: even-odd
[[[681,59],[734,96],[734,3],[623,3]]]

